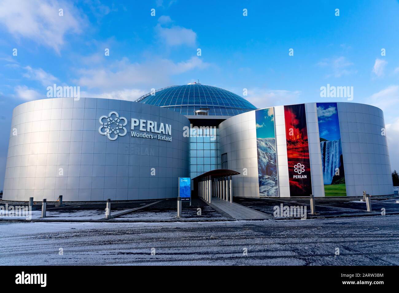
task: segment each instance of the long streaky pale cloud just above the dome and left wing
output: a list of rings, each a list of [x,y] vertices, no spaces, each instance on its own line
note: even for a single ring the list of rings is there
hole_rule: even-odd
[[[130,63],[124,58],[107,67],[81,69],[76,85],[87,88],[120,90],[123,88],[156,88],[160,84],[168,84],[169,77],[186,73],[193,69],[209,66],[198,57],[174,63],[168,59],[153,59],[145,63]]]

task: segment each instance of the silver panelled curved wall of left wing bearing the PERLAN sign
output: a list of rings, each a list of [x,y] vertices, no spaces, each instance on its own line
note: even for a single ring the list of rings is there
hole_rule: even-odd
[[[115,132],[103,127],[111,112],[126,120],[119,129],[113,126]],[[145,137],[132,136],[132,119],[138,124],[135,135]],[[13,112],[3,200],[177,197],[176,178],[190,176],[184,126],[190,122],[181,114],[123,100],[50,98],[21,104]]]

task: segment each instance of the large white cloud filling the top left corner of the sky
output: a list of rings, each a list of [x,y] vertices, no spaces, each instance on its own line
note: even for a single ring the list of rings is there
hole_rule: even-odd
[[[58,10],[63,9],[63,16]],[[57,0],[0,0],[0,24],[59,53],[66,33],[80,33],[84,21],[70,3]]]

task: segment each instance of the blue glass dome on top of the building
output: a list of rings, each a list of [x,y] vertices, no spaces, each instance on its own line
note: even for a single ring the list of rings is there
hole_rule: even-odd
[[[169,108],[183,115],[234,116],[256,109],[233,92],[199,83],[161,88],[141,96],[136,102]]]

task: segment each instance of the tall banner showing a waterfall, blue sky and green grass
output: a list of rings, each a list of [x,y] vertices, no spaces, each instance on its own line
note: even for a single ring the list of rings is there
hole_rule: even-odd
[[[344,159],[337,103],[316,103],[324,194],[346,197]]]

